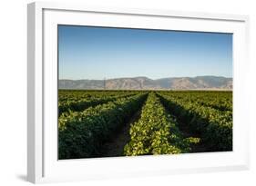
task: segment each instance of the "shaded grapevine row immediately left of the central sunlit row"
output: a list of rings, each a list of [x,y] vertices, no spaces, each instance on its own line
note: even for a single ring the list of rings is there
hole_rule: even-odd
[[[113,102],[70,112],[58,119],[59,159],[97,157],[101,145],[122,127],[145,102],[148,93],[138,93]]]

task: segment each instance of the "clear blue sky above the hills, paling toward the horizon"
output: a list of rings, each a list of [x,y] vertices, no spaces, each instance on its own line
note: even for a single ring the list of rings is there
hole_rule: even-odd
[[[232,34],[58,25],[59,79],[232,77]]]

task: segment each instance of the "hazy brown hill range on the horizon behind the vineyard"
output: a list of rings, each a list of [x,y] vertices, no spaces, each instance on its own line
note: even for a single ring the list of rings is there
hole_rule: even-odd
[[[105,84],[105,85],[104,85]],[[59,80],[60,89],[108,90],[232,90],[232,78],[221,76],[169,77],[157,80],[148,77],[104,80]]]

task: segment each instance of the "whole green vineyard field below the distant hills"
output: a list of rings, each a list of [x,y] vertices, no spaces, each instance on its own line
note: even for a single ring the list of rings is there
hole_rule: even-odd
[[[232,92],[58,91],[58,158],[232,151]]]

